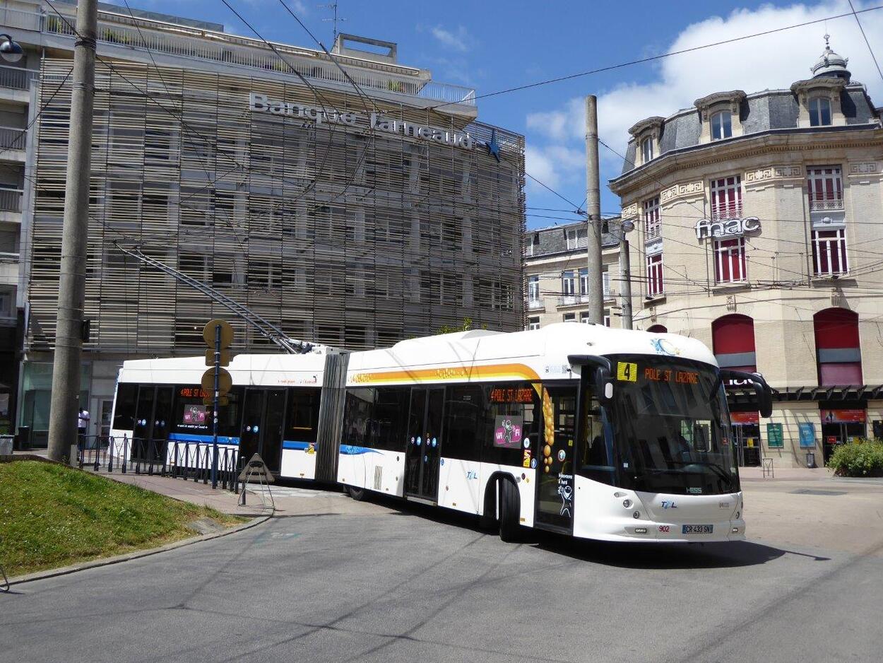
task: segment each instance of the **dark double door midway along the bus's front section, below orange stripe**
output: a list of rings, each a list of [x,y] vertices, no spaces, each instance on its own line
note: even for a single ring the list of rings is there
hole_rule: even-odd
[[[404,493],[438,499],[439,459],[442,456],[444,388],[411,390],[408,446],[404,453]]]

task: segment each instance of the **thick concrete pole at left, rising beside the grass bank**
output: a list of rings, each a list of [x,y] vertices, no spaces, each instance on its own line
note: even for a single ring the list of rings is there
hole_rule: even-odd
[[[77,41],[73,46],[73,90],[52,400],[49,410],[49,458],[61,461],[77,439],[83,306],[86,300],[86,248],[89,228],[89,174],[92,166],[92,108],[95,88],[97,0],[79,0]],[[85,405],[83,407],[86,407]]]

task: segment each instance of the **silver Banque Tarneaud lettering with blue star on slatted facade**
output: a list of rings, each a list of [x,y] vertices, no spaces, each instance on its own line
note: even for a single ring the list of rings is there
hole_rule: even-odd
[[[337,110],[322,110],[314,106],[306,106],[301,103],[283,102],[270,99],[267,95],[252,92],[248,95],[248,110],[271,115],[284,115],[292,118],[301,118],[313,122],[316,126],[323,123],[343,126],[367,126],[385,133],[398,133],[413,138],[421,138],[425,141],[434,141],[446,145],[454,145],[457,148],[473,149],[477,145],[486,147],[488,152],[497,157],[499,161],[499,146],[496,144],[496,135],[491,136],[489,142],[479,141],[472,138],[469,133],[451,131],[437,126],[418,125],[413,122],[405,122],[392,118],[385,118],[380,113],[371,113],[366,116],[363,113],[338,112]],[[366,122],[367,121],[367,122]]]

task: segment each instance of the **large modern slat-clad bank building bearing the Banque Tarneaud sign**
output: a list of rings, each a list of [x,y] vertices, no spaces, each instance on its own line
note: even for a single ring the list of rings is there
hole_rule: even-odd
[[[68,25],[48,4],[12,4],[7,21],[31,29],[5,31],[36,70],[19,104],[21,126],[34,126],[13,296],[28,313],[19,424],[39,444],[75,5],[54,3]],[[100,6],[82,382],[98,424],[90,432],[102,432],[124,359],[199,354],[202,326],[229,316],[117,245],[293,338],[336,347],[389,346],[464,318],[502,331],[524,324],[524,137],[477,121],[474,90],[398,63],[395,43],[342,35],[330,57],[276,49],[281,57],[204,21]],[[229,319],[234,351],[275,351]]]

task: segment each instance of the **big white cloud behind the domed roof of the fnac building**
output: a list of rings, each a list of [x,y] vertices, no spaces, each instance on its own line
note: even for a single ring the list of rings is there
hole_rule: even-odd
[[[857,10],[872,6],[871,2],[855,0],[853,4]],[[784,7],[765,4],[754,10],[738,9],[726,17],[715,16],[685,27],[666,50],[690,49],[777,27],[849,14],[849,11],[847,0]],[[883,10],[867,11],[859,14],[859,19],[872,46],[883,43]],[[766,88],[787,89],[794,81],[811,76],[810,67],[825,46],[822,37],[826,30],[831,35],[831,48],[849,57],[853,80],[863,82],[875,103],[883,104],[883,81],[856,19],[847,15],[811,26],[665,57],[653,65],[657,73],[655,80],[642,84],[623,81],[615,88],[599,93],[600,138],[624,154],[629,140],[628,129],[640,119],[652,115],[667,117],[676,110],[691,108],[696,99],[713,92],[742,89],[751,94]],[[878,57],[883,57],[883,49],[878,50]],[[623,78],[629,76],[629,71],[623,70]],[[591,77],[585,78],[584,86],[586,93],[592,90]],[[526,125],[534,132],[528,136],[528,141],[535,155],[553,154],[553,148],[584,149],[583,103],[583,98],[577,97],[558,109],[527,116]],[[538,147],[538,142],[545,145]],[[614,177],[622,166],[622,159],[603,147],[600,154],[602,179]],[[543,163],[537,156],[534,163],[547,168],[544,174],[549,179],[563,181],[562,168],[566,164]]]

